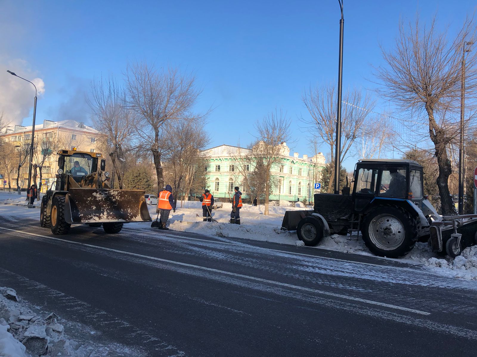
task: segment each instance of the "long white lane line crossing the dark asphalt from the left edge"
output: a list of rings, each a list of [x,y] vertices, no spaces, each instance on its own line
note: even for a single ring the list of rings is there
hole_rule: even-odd
[[[362,299],[362,298],[359,298],[359,297],[352,297],[352,296],[331,293],[331,292],[328,292],[328,291],[323,291],[323,290],[318,290],[318,289],[305,288],[305,287],[301,287],[301,286],[298,286],[298,285],[292,285],[292,284],[282,283],[282,282],[279,282],[279,281],[252,277],[252,276],[244,275],[244,274],[232,273],[230,271],[225,271],[225,270],[202,267],[202,266],[199,266],[199,265],[178,262],[178,261],[175,261],[175,260],[168,260],[168,259],[163,259],[163,258],[150,257],[150,256],[146,256],[146,255],[143,255],[143,254],[127,252],[127,251],[124,251],[124,250],[99,247],[99,246],[95,246],[95,245],[87,244],[87,243],[74,242],[74,241],[71,241],[71,240],[65,240],[65,239],[61,239],[61,238],[42,236],[41,234],[23,232],[21,230],[16,230],[16,229],[10,229],[10,228],[4,228],[4,227],[0,227],[0,229],[4,229],[4,230],[11,231],[11,232],[16,232],[16,233],[22,233],[22,234],[25,234],[25,235],[40,237],[40,238],[52,239],[52,240],[65,242],[65,243],[69,243],[69,244],[77,244],[77,245],[82,245],[82,246],[85,246],[85,247],[107,250],[107,251],[110,251],[110,252],[126,254],[126,255],[133,256],[133,257],[140,257],[140,258],[156,260],[156,261],[160,261],[160,262],[164,262],[164,263],[179,265],[179,266],[182,266],[182,267],[196,268],[196,269],[201,269],[201,270],[206,270],[206,271],[212,271],[212,272],[215,272],[215,273],[218,273],[218,274],[228,275],[228,276],[232,276],[232,277],[235,277],[235,278],[244,278],[244,279],[249,279],[249,280],[254,280],[254,281],[260,281],[260,282],[263,282],[263,283],[272,284],[272,285],[276,285],[276,286],[280,286],[280,287],[293,288],[293,289],[307,291],[307,292],[311,292],[311,293],[315,293],[315,294],[321,294],[321,295],[326,295],[326,296],[331,296],[331,297],[338,297],[338,298],[342,298],[342,299],[346,299],[346,300],[359,301],[359,302],[363,302],[363,303],[366,303],[366,304],[371,304],[371,305],[376,305],[376,306],[381,306],[381,307],[388,307],[388,308],[393,308],[393,309],[402,310],[402,311],[408,311],[408,312],[412,312],[412,313],[420,314],[420,315],[430,315],[431,314],[430,312],[416,310],[416,309],[409,308],[409,307],[396,306],[396,305],[386,304],[386,303],[379,302],[379,301]]]

